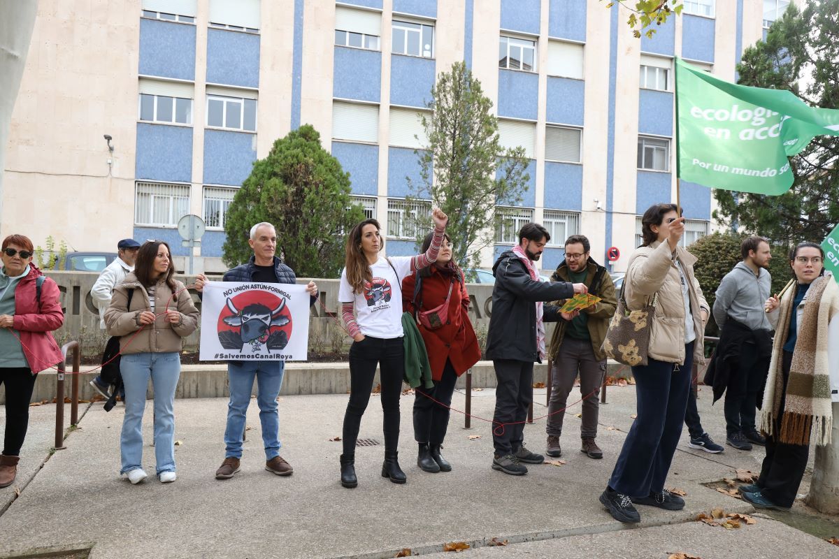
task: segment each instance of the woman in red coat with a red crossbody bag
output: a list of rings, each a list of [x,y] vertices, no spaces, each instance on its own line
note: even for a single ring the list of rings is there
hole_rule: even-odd
[[[428,250],[432,235],[425,237],[423,251]],[[437,261],[405,277],[402,282],[405,312],[419,318],[418,313],[436,309],[430,320],[417,321],[428,351],[434,388],[419,386],[414,389],[414,438],[420,445],[417,465],[431,473],[451,472],[451,464],[440,454],[449,425],[448,406],[457,377],[481,359],[481,348],[469,322],[469,293],[463,282],[463,272],[451,256],[451,239],[446,235]],[[417,292],[418,277],[420,290]]]

